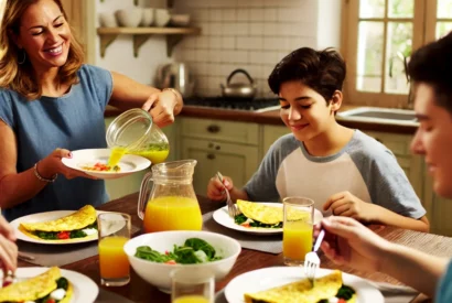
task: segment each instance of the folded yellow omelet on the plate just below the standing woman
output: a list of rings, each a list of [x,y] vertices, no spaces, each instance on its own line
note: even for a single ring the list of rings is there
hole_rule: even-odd
[[[51,221],[21,223],[20,227],[26,231],[71,231],[83,229],[96,221],[96,209],[85,205],[77,212]]]

